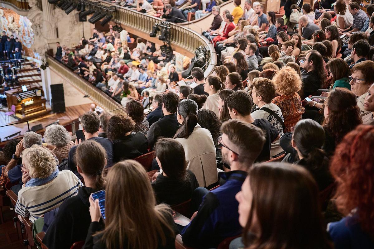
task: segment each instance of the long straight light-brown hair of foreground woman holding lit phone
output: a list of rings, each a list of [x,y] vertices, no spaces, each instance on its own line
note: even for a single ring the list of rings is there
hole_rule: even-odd
[[[156,206],[147,172],[140,163],[125,160],[112,166],[105,190],[105,228],[98,234],[106,248],[156,249],[159,244],[166,245],[167,237],[175,236],[166,221],[172,219],[172,210],[166,205]]]

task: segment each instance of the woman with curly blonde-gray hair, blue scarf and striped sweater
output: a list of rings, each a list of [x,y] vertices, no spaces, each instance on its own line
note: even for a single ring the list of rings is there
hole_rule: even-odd
[[[31,222],[42,217],[78,193],[82,182],[70,170],[57,168],[52,152],[33,145],[22,152],[22,182],[15,212],[28,217]]]

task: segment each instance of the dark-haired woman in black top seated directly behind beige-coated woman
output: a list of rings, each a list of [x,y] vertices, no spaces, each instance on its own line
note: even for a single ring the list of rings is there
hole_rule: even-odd
[[[162,173],[152,177],[152,188],[157,203],[177,205],[191,199],[199,182],[187,168],[184,148],[180,142],[171,138],[160,139],[155,147],[157,163]]]

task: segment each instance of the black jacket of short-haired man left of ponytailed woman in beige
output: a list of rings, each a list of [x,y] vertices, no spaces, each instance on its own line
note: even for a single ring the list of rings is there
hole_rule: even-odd
[[[179,126],[176,113],[163,116],[149,127],[147,133],[148,147],[153,148],[159,137],[172,138]]]

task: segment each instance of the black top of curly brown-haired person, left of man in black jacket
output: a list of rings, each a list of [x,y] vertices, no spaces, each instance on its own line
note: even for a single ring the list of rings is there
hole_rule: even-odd
[[[113,141],[114,163],[134,159],[148,152],[148,141],[142,132],[131,132]]]

